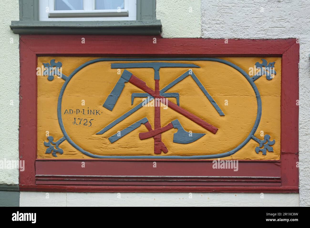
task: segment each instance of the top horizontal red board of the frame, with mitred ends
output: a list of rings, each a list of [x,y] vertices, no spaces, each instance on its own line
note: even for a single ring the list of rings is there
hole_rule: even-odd
[[[85,43],[81,43],[81,38]],[[153,38],[157,38],[156,44]],[[21,40],[37,55],[72,56],[281,56],[296,39],[224,39],[173,38],[160,36],[109,35],[21,35]],[[46,45],[48,44],[48,45]],[[44,47],[44,48],[42,48]],[[262,51],[263,50],[263,51]]]

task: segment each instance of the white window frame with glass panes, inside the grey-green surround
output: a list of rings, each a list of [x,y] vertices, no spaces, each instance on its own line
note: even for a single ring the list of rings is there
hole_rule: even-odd
[[[136,20],[136,0],[40,0],[40,21]]]

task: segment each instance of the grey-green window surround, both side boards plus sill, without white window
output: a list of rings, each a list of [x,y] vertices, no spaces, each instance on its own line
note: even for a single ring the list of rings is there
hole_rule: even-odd
[[[19,0],[20,20],[11,21],[16,34],[159,35],[156,0],[137,0],[135,21],[39,21],[39,0]]]

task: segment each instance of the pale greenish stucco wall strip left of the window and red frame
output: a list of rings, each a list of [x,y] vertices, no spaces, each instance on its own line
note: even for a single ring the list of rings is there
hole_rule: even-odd
[[[0,160],[18,160],[19,36],[11,20],[19,20],[18,1],[0,0]],[[13,42],[13,43],[12,43]],[[0,184],[18,184],[18,169],[0,169]]]

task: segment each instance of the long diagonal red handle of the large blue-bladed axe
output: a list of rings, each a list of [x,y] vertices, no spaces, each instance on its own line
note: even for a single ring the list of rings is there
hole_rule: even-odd
[[[129,79],[129,82],[131,84],[135,85],[136,87],[142,89],[144,92],[147,92],[149,95],[151,95],[153,97],[155,96],[154,90],[149,88],[144,81],[142,81],[140,78],[137,78],[135,75],[133,75],[133,74],[131,75],[131,77]],[[158,98],[162,98],[162,101],[163,101],[163,99],[166,99],[163,96],[157,96],[157,97]],[[217,130],[218,130],[217,127],[214,127],[210,123],[207,123],[206,121],[202,120],[201,118],[197,117],[196,115],[186,111],[185,109],[182,109],[180,106],[172,103],[169,100],[168,100],[168,107],[171,108],[172,110],[175,110],[179,114],[184,115],[185,117],[189,118],[190,120],[192,120],[193,122],[197,123],[201,127],[203,127],[206,130],[212,132],[213,134],[215,134],[217,132]]]

